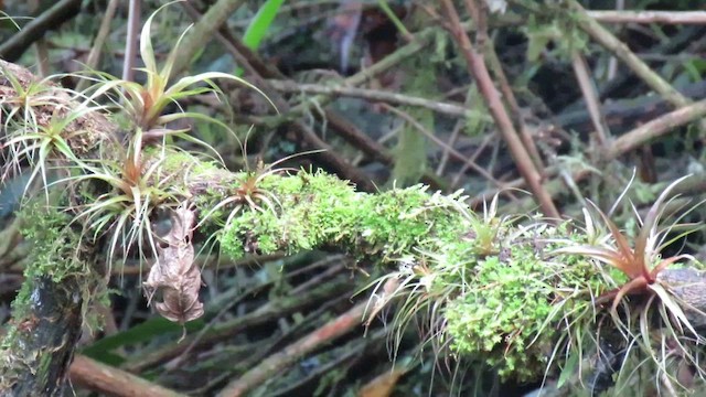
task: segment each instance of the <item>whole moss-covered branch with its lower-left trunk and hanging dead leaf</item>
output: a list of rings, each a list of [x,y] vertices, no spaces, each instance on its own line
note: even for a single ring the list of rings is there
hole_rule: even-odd
[[[4,67],[8,78],[0,81],[0,88],[6,98],[19,95],[18,84],[23,89],[33,84],[26,72]],[[10,78],[10,68],[13,74],[24,73],[22,78]],[[39,93],[53,95],[52,89],[58,90],[49,86]],[[4,104],[10,116],[19,115],[11,110],[11,100]],[[42,101],[36,110],[45,118],[39,122],[52,125],[73,105],[79,107],[65,101],[61,111],[54,111]],[[151,221],[161,212],[171,214],[171,228],[159,236],[163,244],[153,253],[159,271],[148,282],[152,291],[169,291],[170,302],[162,308],[173,320],[189,320],[200,312],[194,310],[201,303],[193,283],[201,280],[193,267],[192,234],[201,234],[216,237],[221,249],[236,258],[249,253],[335,248],[386,266],[388,276],[372,286],[368,319],[385,304],[402,302],[394,328],[427,315],[439,345],[495,368],[505,378],[532,380],[573,372],[585,352],[607,335],[620,335],[621,326],[634,335],[666,329],[666,337],[685,337],[680,340],[680,354],[688,358],[687,365],[703,363],[698,360],[703,336],[689,333],[695,331],[689,326],[699,324],[706,308],[703,299],[694,299],[698,294],[693,288],[682,288],[684,273],[656,280],[657,292],[648,293],[646,300],[631,296],[624,302],[634,310],[613,313],[611,319],[610,310],[597,304],[597,299],[633,276],[586,256],[556,254],[574,244],[607,248],[608,233],[570,233],[568,224],[557,226],[534,216],[513,219],[496,214],[492,204],[478,215],[460,193],[430,194],[420,185],[365,194],[321,172],[265,168],[232,173],[162,147],[159,139],[142,140],[159,136],[160,130],[138,128],[119,136],[98,109],[88,110],[84,106],[63,130],[53,131],[56,136],[51,138],[66,146],[55,146],[57,150],[44,159],[73,167],[73,174],[58,186],[61,200],[71,203],[64,210],[75,218],[38,212],[36,226],[25,233],[36,245],[33,264],[0,362],[3,386],[18,395],[58,393],[85,321],[82,313],[99,285],[94,275],[101,269],[90,259],[93,247],[110,247],[108,255],[113,255],[118,246],[126,251],[132,246],[149,257],[150,245],[142,238],[150,236]],[[64,130],[68,133],[63,135]],[[703,273],[693,276],[686,282],[703,286]],[[678,286],[670,286],[672,280]],[[656,296],[666,305],[650,305]],[[652,316],[644,313],[663,313],[665,307],[672,318],[648,321]],[[622,322],[611,321],[616,319]],[[654,346],[645,347],[642,352],[650,354]],[[662,364],[659,371],[672,369]]]

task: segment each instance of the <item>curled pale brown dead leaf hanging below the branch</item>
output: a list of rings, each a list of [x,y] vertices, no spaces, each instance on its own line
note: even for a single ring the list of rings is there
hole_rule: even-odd
[[[201,270],[194,264],[192,244],[196,214],[182,204],[171,216],[172,228],[158,244],[157,262],[143,286],[149,300],[161,290],[162,301],[154,308],[162,316],[184,324],[203,315],[203,303],[199,301]]]

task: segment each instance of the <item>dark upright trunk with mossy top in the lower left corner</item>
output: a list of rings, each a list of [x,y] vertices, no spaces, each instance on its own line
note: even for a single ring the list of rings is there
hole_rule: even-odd
[[[87,321],[86,303],[100,286],[94,249],[68,227],[65,214],[29,206],[20,216],[33,249],[0,346],[0,390],[12,396],[63,396]]]

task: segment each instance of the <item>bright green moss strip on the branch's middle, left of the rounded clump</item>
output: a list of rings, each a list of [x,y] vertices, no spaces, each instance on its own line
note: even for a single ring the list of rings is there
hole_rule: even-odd
[[[355,256],[382,253],[384,261],[394,260],[415,249],[436,249],[442,238],[456,239],[467,227],[441,205],[441,196],[421,185],[372,195],[322,172],[302,171],[268,175],[258,189],[276,205],[246,206],[224,228],[222,248],[234,257],[335,245]]]

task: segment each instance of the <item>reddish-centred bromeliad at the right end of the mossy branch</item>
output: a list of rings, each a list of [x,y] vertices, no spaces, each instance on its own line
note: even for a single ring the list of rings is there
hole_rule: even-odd
[[[585,238],[588,243],[577,245],[569,239],[560,239],[556,242],[565,246],[555,250],[557,254],[584,256],[593,262],[610,267],[605,269],[598,265],[598,270],[603,275],[607,285],[616,287],[599,293],[593,302],[597,307],[611,304],[610,315],[624,339],[624,345],[621,347],[624,356],[621,361],[623,365],[628,361],[640,363],[635,371],[642,365],[652,363],[655,366],[651,366],[652,373],[662,375],[657,378],[657,384],[671,390],[685,387],[682,379],[675,375],[684,372],[680,368],[688,367],[692,368],[689,371],[695,372],[695,376],[702,378],[706,376],[703,365],[699,365],[702,357],[698,353],[700,351],[698,346],[703,346],[706,340],[697,333],[682,309],[684,302],[681,302],[678,297],[672,293],[670,286],[662,282],[660,278],[660,273],[671,265],[682,259],[694,260],[687,254],[662,256],[665,247],[695,232],[693,224],[680,224],[691,210],[683,212],[670,226],[663,228],[659,226],[665,207],[677,197],[670,198],[672,191],[686,178],[688,175],[674,181],[660,194],[642,222],[633,245],[608,215],[593,205],[608,232],[596,225],[589,212],[585,210]],[[624,280],[621,280],[621,277],[611,269],[618,270]],[[631,304],[628,305],[629,297],[633,299],[641,297],[643,300],[631,300]],[[618,312],[621,304],[625,309],[623,313]],[[659,315],[655,318],[653,313]],[[576,321],[574,328],[581,326],[582,323],[596,322],[596,313],[585,312],[579,318],[582,320]],[[589,329],[592,328],[589,326]],[[637,351],[640,353],[631,356],[629,353],[634,347],[639,347]],[[624,376],[621,371],[618,385],[627,385],[625,382],[631,377]]]

